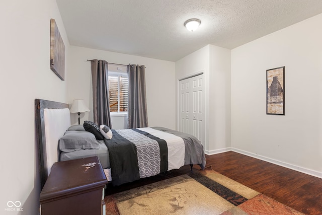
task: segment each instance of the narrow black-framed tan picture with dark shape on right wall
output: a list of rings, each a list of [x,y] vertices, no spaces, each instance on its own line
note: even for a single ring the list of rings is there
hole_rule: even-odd
[[[266,114],[285,115],[285,66],[266,70]]]

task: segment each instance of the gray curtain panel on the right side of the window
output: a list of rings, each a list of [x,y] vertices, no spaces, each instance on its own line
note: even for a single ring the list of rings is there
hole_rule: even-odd
[[[128,97],[128,128],[148,127],[145,66],[128,65],[129,97]]]

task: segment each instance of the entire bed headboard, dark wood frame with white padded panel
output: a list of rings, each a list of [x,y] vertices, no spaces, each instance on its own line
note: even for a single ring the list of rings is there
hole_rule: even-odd
[[[36,143],[38,147],[41,188],[47,180],[51,166],[59,161],[58,140],[70,126],[69,109],[68,111],[66,109],[68,109],[68,104],[65,103],[35,99]],[[56,110],[60,111],[60,113],[61,111],[65,112],[63,123],[59,119],[49,120],[49,122],[46,120],[48,118],[46,117],[46,112]],[[53,129],[55,131],[54,134],[49,133],[48,129]]]

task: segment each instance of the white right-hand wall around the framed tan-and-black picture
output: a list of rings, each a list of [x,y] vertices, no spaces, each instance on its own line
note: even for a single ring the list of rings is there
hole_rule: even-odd
[[[231,51],[231,147],[322,177],[322,14]],[[285,116],[266,115],[266,69],[285,66]]]

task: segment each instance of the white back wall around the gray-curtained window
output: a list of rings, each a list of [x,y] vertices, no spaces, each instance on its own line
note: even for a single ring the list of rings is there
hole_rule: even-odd
[[[175,129],[176,95],[175,62],[140,57],[97,49],[70,46],[68,78],[68,101],[84,99],[91,112],[81,114],[84,120],[93,120],[93,96],[91,63],[88,59],[103,59],[112,63],[145,65],[147,114],[149,126]],[[121,121],[124,121],[123,117]],[[112,123],[113,123],[112,119]],[[77,114],[71,115],[71,123],[77,122]],[[119,128],[117,122],[116,128]],[[113,126],[113,124],[112,124]],[[113,127],[114,128],[114,127]]]

